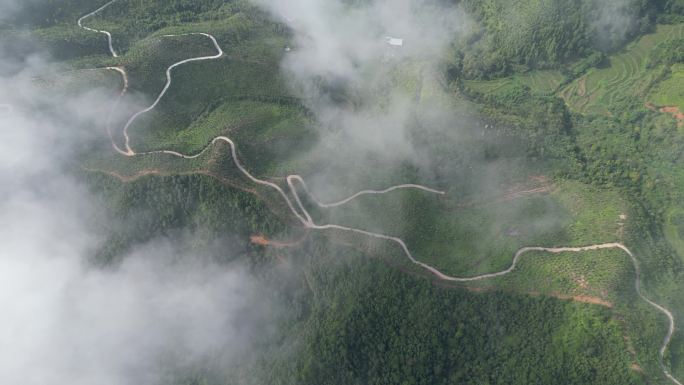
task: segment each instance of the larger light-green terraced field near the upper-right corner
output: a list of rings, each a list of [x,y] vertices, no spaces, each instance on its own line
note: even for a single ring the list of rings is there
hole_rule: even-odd
[[[609,66],[591,69],[560,90],[559,95],[577,112],[601,115],[609,115],[610,106],[621,96],[645,99],[663,70],[662,67],[647,68],[651,49],[657,42],[682,36],[684,24],[659,25],[655,33],[611,56]]]

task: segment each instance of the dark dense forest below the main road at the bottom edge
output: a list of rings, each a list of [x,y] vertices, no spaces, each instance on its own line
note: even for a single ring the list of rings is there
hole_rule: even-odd
[[[268,383],[640,383],[618,323],[599,307],[436,287],[365,258],[307,276],[303,351]]]

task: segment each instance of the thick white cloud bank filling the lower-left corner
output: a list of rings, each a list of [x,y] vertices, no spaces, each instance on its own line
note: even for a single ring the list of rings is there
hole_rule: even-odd
[[[277,308],[246,268],[179,251],[182,238],[138,245],[117,266],[90,263],[108,218],[74,176],[74,154],[106,136],[116,92],[51,87],[57,75],[38,53],[10,64],[14,75],[0,78],[0,383],[167,384],[211,359],[245,360]]]

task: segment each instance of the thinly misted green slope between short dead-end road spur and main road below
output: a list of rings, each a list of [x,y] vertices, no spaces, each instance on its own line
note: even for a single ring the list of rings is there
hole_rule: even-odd
[[[619,237],[625,203],[617,194],[571,182],[553,189],[470,207],[453,195],[402,191],[327,210],[323,218],[400,237],[417,259],[454,276],[504,270],[524,246],[583,246]],[[412,267],[402,253],[395,259]]]

